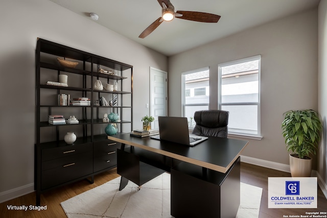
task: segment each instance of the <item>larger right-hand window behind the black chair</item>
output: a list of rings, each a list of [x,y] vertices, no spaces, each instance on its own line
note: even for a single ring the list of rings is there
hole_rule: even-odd
[[[260,136],[260,60],[258,55],[218,65],[218,104],[229,111],[228,133]]]

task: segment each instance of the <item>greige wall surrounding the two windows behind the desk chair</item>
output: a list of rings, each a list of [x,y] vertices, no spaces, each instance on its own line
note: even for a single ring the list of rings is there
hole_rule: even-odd
[[[281,130],[283,113],[318,109],[317,31],[314,9],[169,57],[169,115],[181,115],[181,72],[209,66],[209,107],[217,109],[217,65],[261,54],[263,139],[249,139],[242,155],[289,164]]]

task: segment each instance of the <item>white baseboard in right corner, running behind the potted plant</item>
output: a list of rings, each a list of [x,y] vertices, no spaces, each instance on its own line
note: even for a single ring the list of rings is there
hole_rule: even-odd
[[[241,162],[250,163],[250,164],[258,165],[258,166],[263,166],[266,168],[276,169],[277,171],[283,171],[283,172],[287,172],[287,173],[291,172],[290,165],[276,163],[276,162],[272,162],[272,161],[268,161],[268,160],[262,160],[262,159],[258,159],[258,158],[247,157],[247,156],[241,155]],[[312,171],[311,175],[314,177],[317,177],[318,185],[319,185],[323,195],[327,199],[327,184],[324,183],[324,181],[322,180],[321,176],[318,174],[317,171]]]

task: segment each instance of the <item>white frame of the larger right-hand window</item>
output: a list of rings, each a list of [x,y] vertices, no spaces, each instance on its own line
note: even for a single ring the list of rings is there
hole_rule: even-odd
[[[254,61],[254,60],[258,60],[259,61],[259,69],[258,69],[258,102],[238,102],[238,103],[222,103],[222,72],[221,72],[221,68],[225,67],[225,66],[229,66],[229,65],[233,65],[233,64],[239,64],[239,63],[244,63],[244,62],[249,62],[249,61]],[[258,132],[257,134],[248,134],[248,133],[242,133],[242,132],[230,132],[228,130],[228,135],[229,136],[236,136],[236,137],[246,137],[246,138],[251,138],[251,139],[258,139],[261,140],[262,136],[261,136],[261,55],[255,55],[255,56],[251,56],[251,57],[247,57],[247,58],[241,58],[238,60],[233,60],[233,61],[228,61],[228,62],[224,62],[224,63],[220,63],[218,64],[218,108],[219,110],[221,110],[222,106],[239,106],[239,105],[255,105],[258,107],[258,114],[257,114],[257,119],[258,119],[258,123],[257,123],[257,128],[258,128]]]

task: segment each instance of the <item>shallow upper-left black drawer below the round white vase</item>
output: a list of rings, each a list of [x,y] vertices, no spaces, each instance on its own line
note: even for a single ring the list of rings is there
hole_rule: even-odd
[[[91,152],[92,151],[92,143],[71,145],[71,146],[63,146],[52,149],[43,149],[42,150],[42,162],[47,160],[53,160],[62,157],[68,157],[76,154],[80,154],[83,152]]]

